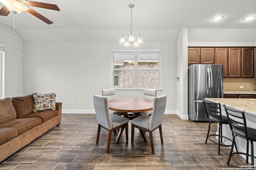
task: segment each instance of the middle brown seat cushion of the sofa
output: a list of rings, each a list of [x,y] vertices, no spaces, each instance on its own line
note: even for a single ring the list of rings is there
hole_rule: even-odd
[[[24,118],[24,119],[12,119],[8,122],[0,124],[0,128],[4,127],[14,127],[17,129],[18,135],[33,129],[34,127],[42,124],[42,119],[40,118]]]

